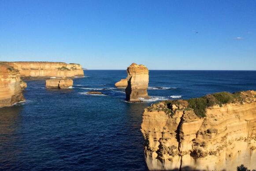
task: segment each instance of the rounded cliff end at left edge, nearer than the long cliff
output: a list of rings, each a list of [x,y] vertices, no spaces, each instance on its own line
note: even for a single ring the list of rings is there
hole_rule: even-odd
[[[0,107],[24,101],[19,71],[0,64]]]

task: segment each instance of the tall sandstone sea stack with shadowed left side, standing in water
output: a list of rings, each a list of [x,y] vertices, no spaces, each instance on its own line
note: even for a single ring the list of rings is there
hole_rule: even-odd
[[[139,98],[148,99],[148,68],[144,65],[131,64],[127,68],[126,100],[139,102]]]

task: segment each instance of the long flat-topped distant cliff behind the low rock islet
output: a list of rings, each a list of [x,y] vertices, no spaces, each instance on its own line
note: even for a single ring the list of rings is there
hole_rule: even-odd
[[[22,77],[74,77],[83,76],[80,64],[63,62],[4,62],[20,71]]]

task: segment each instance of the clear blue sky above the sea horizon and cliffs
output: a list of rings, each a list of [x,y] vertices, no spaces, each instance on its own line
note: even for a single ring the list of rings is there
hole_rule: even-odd
[[[0,0],[0,61],[256,70],[256,0]]]

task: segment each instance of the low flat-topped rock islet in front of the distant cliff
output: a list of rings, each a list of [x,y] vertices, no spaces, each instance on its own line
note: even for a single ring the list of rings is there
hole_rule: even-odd
[[[45,86],[47,89],[67,89],[73,86],[73,80],[66,77],[50,78],[45,81]]]

